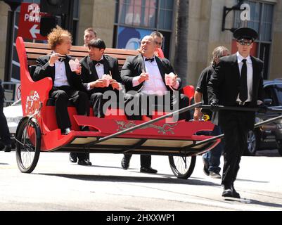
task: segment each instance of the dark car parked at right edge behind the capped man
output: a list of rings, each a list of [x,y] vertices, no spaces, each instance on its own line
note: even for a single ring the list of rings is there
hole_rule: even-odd
[[[264,81],[264,104],[270,108],[282,110],[282,79]],[[257,113],[255,122],[262,122],[278,115],[281,114]],[[249,131],[248,151],[245,155],[255,155],[257,150],[276,148],[282,156],[282,120],[277,120],[271,124],[263,125],[254,131]]]

